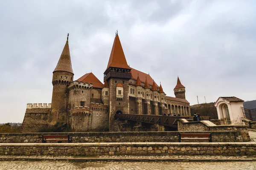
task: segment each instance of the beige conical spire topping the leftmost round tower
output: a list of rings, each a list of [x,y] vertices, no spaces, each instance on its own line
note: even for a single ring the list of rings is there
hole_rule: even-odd
[[[55,71],[67,71],[73,73],[72,64],[71,64],[71,57],[70,57],[70,50],[68,45],[68,36],[67,34],[67,41],[61,53],[61,57],[58,60],[58,64],[53,72]],[[74,73],[73,73],[74,74]]]

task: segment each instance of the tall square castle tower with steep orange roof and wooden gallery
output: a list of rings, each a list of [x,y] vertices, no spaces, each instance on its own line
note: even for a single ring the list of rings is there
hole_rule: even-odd
[[[109,129],[113,130],[115,113],[129,113],[128,84],[131,79],[131,68],[128,66],[118,34],[104,72],[104,82],[109,86]]]

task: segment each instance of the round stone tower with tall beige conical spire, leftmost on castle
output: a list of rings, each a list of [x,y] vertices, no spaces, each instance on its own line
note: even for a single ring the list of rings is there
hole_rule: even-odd
[[[52,76],[52,111],[50,116],[50,125],[55,125],[57,122],[67,122],[67,102],[68,93],[67,87],[73,82],[73,69],[70,58],[70,50],[67,41],[58,60],[58,64],[53,71]]]

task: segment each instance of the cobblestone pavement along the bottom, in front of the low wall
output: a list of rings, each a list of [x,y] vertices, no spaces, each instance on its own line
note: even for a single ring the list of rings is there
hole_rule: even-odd
[[[70,162],[0,161],[0,170],[255,170],[256,161]]]

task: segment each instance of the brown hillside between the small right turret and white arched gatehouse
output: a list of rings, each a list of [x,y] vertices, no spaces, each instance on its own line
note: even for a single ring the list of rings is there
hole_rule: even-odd
[[[214,107],[214,102],[201,103],[190,106],[191,115],[200,113],[201,116],[210,116],[211,119],[218,119],[217,109]]]

